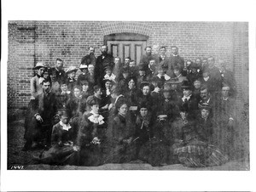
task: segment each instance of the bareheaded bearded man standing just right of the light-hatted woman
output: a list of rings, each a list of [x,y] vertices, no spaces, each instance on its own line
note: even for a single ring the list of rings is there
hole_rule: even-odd
[[[51,68],[48,71],[48,73],[52,82],[52,91],[54,93],[59,92],[60,84],[65,80],[65,71],[63,70],[63,60],[57,58],[55,60],[55,68]]]

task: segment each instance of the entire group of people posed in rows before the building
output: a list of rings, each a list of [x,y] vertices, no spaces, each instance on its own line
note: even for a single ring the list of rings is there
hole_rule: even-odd
[[[121,63],[106,45],[98,57],[89,50],[79,69],[64,71],[61,59],[34,68],[23,150],[43,149],[35,161],[208,167],[232,159],[236,81],[224,62],[184,60],[176,46],[170,57],[148,46],[139,64]]]

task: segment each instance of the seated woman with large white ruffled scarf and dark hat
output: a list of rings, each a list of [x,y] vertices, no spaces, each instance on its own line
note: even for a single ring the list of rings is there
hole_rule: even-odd
[[[102,165],[105,153],[107,123],[99,114],[99,103],[97,99],[87,99],[90,113],[79,117],[79,134],[77,144],[80,151],[78,156],[79,166]]]

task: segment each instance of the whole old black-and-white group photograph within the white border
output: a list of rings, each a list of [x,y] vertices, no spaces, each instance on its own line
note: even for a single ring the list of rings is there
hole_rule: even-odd
[[[27,18],[5,22],[7,172],[252,171],[252,22]]]

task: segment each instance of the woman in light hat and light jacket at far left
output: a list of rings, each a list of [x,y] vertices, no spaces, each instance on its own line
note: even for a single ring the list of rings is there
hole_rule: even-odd
[[[30,80],[31,99],[35,99],[38,94],[43,93],[42,83],[44,81],[46,66],[43,62],[38,62],[34,70],[36,71],[36,76],[33,76]]]

